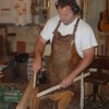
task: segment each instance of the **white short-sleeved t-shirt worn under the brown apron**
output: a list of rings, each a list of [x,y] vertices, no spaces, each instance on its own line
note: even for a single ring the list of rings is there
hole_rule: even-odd
[[[44,29],[41,31],[40,35],[46,40],[50,39],[50,43],[52,43],[53,37],[53,31],[56,29],[58,23],[59,23],[59,16],[53,16],[52,19],[48,20],[46,23]],[[72,34],[74,29],[74,25],[76,23],[77,17],[69,25],[64,25],[62,22],[58,28],[58,31],[61,33],[61,35],[68,35]],[[92,27],[84,22],[83,20],[80,20],[77,29],[75,32],[75,45],[77,52],[81,57],[83,56],[83,50],[88,49],[90,47],[97,46],[97,41],[94,35],[94,32]]]

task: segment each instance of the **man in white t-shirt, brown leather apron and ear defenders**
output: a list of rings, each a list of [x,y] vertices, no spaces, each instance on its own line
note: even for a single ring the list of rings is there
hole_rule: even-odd
[[[58,0],[56,8],[59,15],[48,20],[37,38],[33,70],[38,73],[41,69],[45,46],[50,40],[49,81],[66,88],[93,61],[97,41],[90,26],[80,19],[75,0]]]

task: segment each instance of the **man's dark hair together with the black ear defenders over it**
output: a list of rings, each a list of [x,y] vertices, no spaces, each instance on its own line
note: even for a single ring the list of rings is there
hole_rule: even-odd
[[[80,12],[80,7],[77,5],[75,0],[58,0],[56,2],[56,8],[61,7],[62,9],[66,5],[71,7],[73,14],[77,14]]]

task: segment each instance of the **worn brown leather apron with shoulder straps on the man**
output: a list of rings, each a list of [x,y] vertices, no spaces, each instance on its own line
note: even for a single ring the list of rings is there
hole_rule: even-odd
[[[58,32],[61,24],[60,21],[53,32],[49,62],[49,81],[51,86],[60,84],[75,69],[81,59],[75,47],[75,32],[78,21],[80,19],[77,19],[72,34],[62,36]]]

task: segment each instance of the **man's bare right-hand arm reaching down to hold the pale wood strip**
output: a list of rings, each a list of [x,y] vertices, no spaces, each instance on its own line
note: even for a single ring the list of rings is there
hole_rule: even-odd
[[[60,87],[68,87],[72,84],[75,76],[77,76],[81,72],[83,72],[93,61],[94,59],[94,48],[89,48],[83,51],[84,58],[78,62],[75,70],[71,72],[70,75],[68,75],[62,83],[60,84]]]

